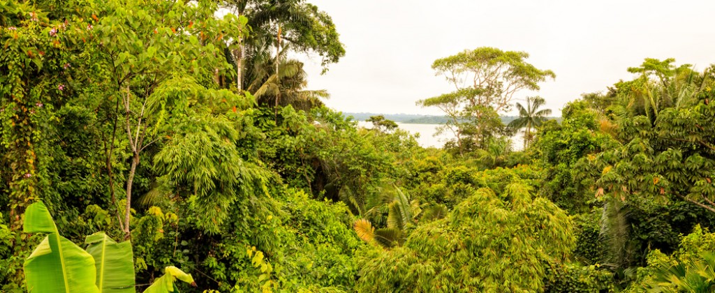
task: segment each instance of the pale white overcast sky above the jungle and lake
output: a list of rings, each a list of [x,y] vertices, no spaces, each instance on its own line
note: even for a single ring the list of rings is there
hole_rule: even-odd
[[[646,57],[715,63],[715,1],[308,1],[332,16],[347,51],[325,75],[319,58],[306,61],[310,89],[327,89],[338,111],[440,114],[415,106],[453,89],[432,62],[480,46],[526,51],[553,70],[538,95],[555,114],[631,79],[626,69]]]

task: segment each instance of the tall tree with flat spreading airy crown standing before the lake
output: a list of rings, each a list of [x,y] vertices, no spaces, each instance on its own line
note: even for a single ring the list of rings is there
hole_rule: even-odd
[[[556,78],[553,71],[528,64],[528,56],[523,51],[480,47],[437,59],[432,68],[455,91],[417,104],[435,106],[447,114],[450,121],[442,130],[453,131],[460,152],[465,149],[465,142],[485,148],[490,137],[503,129],[498,114],[508,111],[514,94],[524,89],[538,90],[539,83]]]

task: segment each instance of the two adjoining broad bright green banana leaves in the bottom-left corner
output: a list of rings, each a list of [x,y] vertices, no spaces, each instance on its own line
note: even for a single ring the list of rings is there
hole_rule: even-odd
[[[25,261],[29,292],[134,292],[132,244],[99,232],[87,237],[85,252],[59,235],[42,202],[25,215],[26,233],[49,233]]]

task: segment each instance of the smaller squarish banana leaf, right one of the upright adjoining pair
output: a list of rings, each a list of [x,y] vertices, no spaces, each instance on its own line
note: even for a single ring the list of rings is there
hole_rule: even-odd
[[[97,287],[101,292],[134,293],[134,257],[132,244],[117,243],[104,232],[84,239],[87,252],[94,257],[97,267]]]

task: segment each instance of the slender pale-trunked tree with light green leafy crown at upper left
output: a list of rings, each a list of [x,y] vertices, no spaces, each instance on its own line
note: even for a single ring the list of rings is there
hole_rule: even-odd
[[[129,10],[127,6],[137,9]],[[230,69],[222,58],[226,46],[223,39],[245,34],[240,28],[246,19],[231,14],[217,19],[214,16],[217,6],[208,1],[198,5],[153,0],[109,1],[100,8],[102,19],[94,16],[96,20],[87,30],[92,31],[91,40],[99,48],[97,74],[112,73],[103,80],[108,99],[117,103],[111,118],[115,126],[109,149],[117,143],[114,136],[118,135],[116,129],[120,129],[126,134],[122,138],[127,139],[131,153],[122,227],[129,238],[134,177],[142,152],[164,139],[166,122],[173,115],[184,116],[182,112],[190,106],[190,103],[174,104],[182,97],[179,91],[166,90],[162,85],[179,75],[194,76],[202,84],[214,83],[215,72]],[[107,152],[108,156],[111,154]]]

